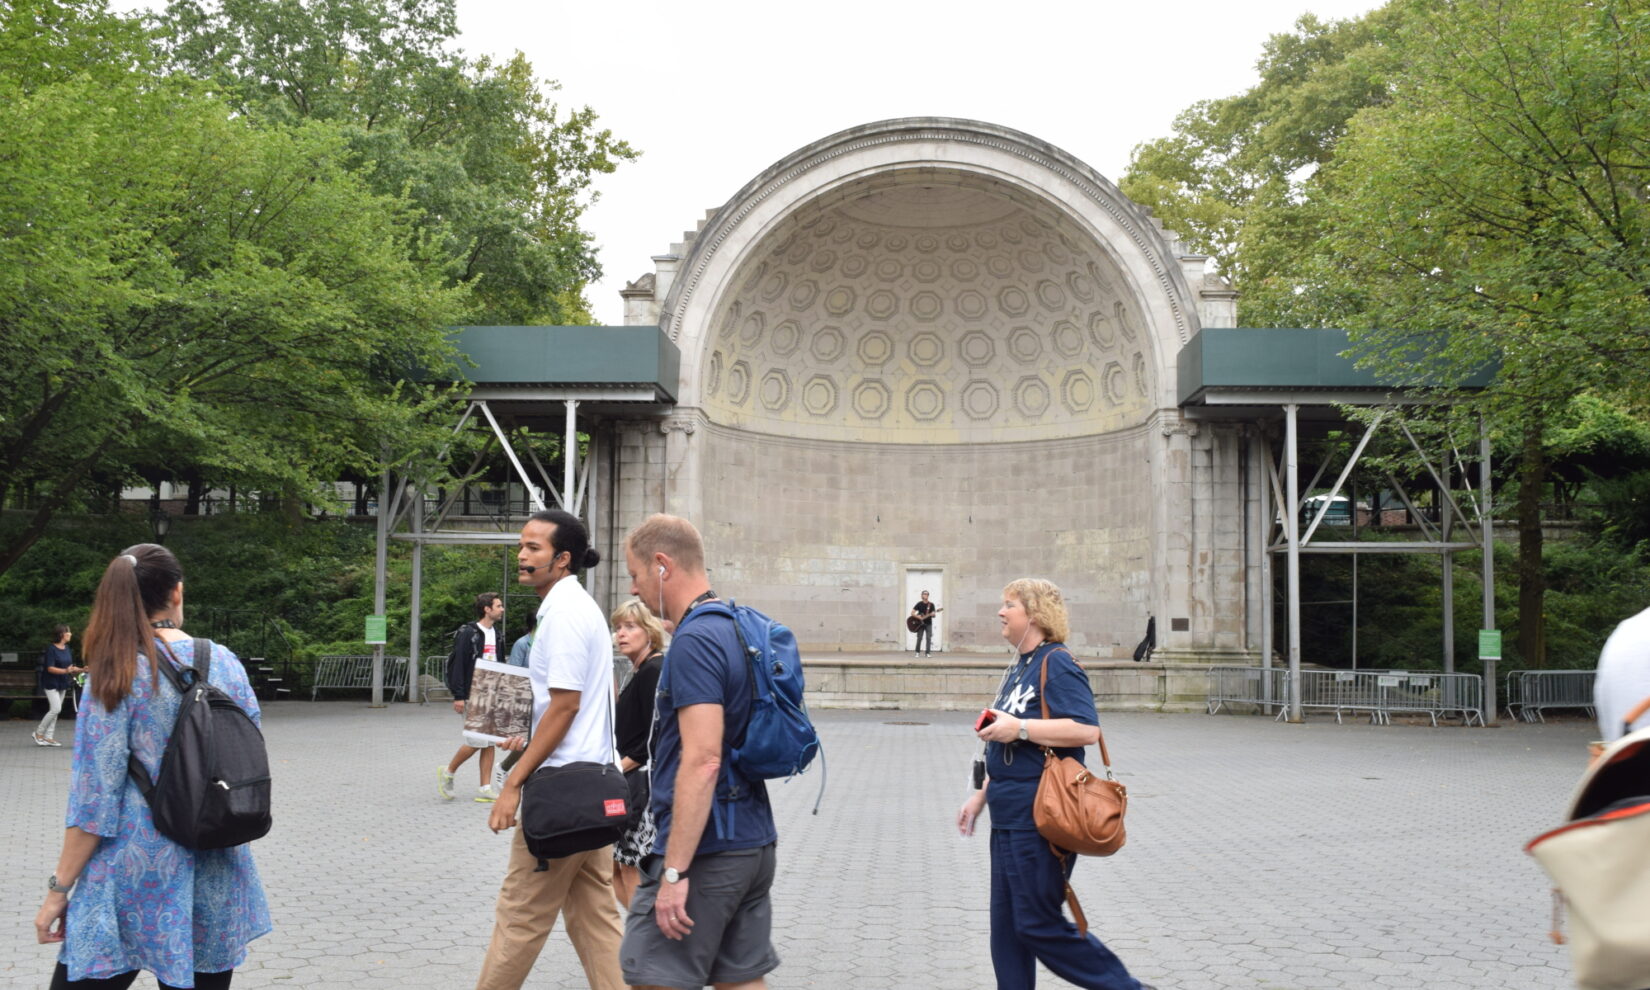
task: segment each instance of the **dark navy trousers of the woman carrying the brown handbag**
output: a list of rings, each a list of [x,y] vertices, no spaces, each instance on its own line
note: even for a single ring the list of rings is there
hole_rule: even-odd
[[[992,830],[992,967],[997,990],[1036,987],[1041,960],[1056,977],[1087,990],[1138,990],[1110,949],[1066,921],[1066,878],[1076,865],[1035,830]]]

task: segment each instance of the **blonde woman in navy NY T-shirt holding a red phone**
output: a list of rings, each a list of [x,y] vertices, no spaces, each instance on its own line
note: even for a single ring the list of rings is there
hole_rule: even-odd
[[[997,612],[1015,662],[992,703],[985,742],[985,787],[957,812],[957,832],[974,835],[992,810],[992,967],[998,990],[1036,987],[1041,962],[1063,980],[1092,990],[1152,990],[1092,934],[1066,921],[1061,904],[1076,856],[1056,856],[1036,832],[1031,804],[1043,777],[1043,747],[1082,761],[1101,738],[1089,676],[1064,645],[1066,601],[1048,581],[1021,578],[1003,589]],[[1040,680],[1048,658],[1048,714]]]

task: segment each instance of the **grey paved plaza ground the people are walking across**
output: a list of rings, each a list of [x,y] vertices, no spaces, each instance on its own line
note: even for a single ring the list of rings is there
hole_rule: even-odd
[[[992,985],[987,843],[952,817],[974,747],[959,713],[825,711],[830,787],[774,787],[780,832],[772,987]],[[71,729],[73,723],[64,723]],[[40,990],[53,950],[33,914],[56,865],[69,749],[0,723],[0,987]],[[1582,721],[1498,729],[1106,716],[1130,787],[1129,845],[1084,860],[1094,931],[1163,990],[1549,990],[1548,884],[1521,843],[1556,823],[1584,762]],[[508,838],[487,805],[436,795],[457,746],[439,705],[280,703],[276,830],[257,843],[276,932],[239,990],[467,988]],[[68,733],[61,733],[68,734]],[[1092,751],[1091,751],[1092,752]],[[558,931],[528,987],[581,987]],[[1043,985],[1064,985],[1043,974]],[[153,987],[145,977],[139,987]]]

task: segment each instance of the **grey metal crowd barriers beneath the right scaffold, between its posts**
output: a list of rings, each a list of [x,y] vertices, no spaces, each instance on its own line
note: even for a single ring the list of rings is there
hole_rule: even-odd
[[[1211,667],[1208,713],[1231,705],[1289,713],[1287,667]],[[1483,724],[1483,678],[1475,673],[1414,673],[1407,670],[1302,670],[1302,711],[1368,714],[1371,723],[1391,724],[1394,713],[1455,716],[1462,724]]]

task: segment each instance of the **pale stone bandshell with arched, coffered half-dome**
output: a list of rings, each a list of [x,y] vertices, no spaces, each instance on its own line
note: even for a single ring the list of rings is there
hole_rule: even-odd
[[[1148,615],[1170,658],[1257,647],[1257,465],[1175,408],[1180,348],[1234,297],[1081,162],[978,122],[871,124],[653,261],[625,317],[681,348],[678,406],[614,426],[607,546],[650,512],[695,520],[714,586],[813,652],[898,648],[917,564],[952,650],[1002,650],[998,592],[1026,574],[1066,591],[1086,655],[1127,657]]]

